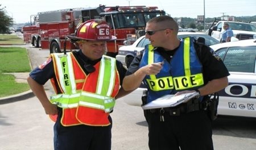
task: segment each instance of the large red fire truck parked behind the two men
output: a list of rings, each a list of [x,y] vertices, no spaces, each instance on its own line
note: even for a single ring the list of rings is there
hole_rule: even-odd
[[[50,53],[62,52],[64,43],[67,50],[77,49],[66,36],[75,34],[77,26],[89,19],[104,19],[111,26],[117,40],[107,43],[107,55],[115,57],[123,44],[132,44],[145,35],[146,22],[159,15],[166,15],[158,7],[146,6],[105,6],[39,12],[38,36],[31,35],[35,47],[49,49]],[[35,27],[36,28],[36,27]],[[24,30],[24,29],[23,29]]]

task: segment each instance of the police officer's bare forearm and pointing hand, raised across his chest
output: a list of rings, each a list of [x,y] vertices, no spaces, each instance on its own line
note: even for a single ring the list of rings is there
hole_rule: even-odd
[[[139,68],[135,73],[123,78],[123,89],[126,91],[137,89],[146,75],[158,74],[162,67],[162,62],[157,62]]]

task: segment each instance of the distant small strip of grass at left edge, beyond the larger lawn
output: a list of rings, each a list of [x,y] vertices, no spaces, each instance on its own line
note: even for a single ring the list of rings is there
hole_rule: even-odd
[[[16,35],[0,35],[0,45],[1,44],[24,44],[24,41]]]

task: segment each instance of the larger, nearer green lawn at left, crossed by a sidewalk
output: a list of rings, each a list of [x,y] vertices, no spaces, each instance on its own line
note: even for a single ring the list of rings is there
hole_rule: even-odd
[[[31,66],[26,48],[0,47],[0,97],[22,93],[30,89],[28,84],[15,82],[11,72],[30,72]]]

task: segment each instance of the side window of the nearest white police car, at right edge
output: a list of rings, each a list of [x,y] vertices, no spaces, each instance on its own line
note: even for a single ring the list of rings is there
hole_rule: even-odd
[[[255,72],[256,47],[232,47],[224,57],[224,64],[230,72]],[[220,52],[220,55],[222,53]]]

